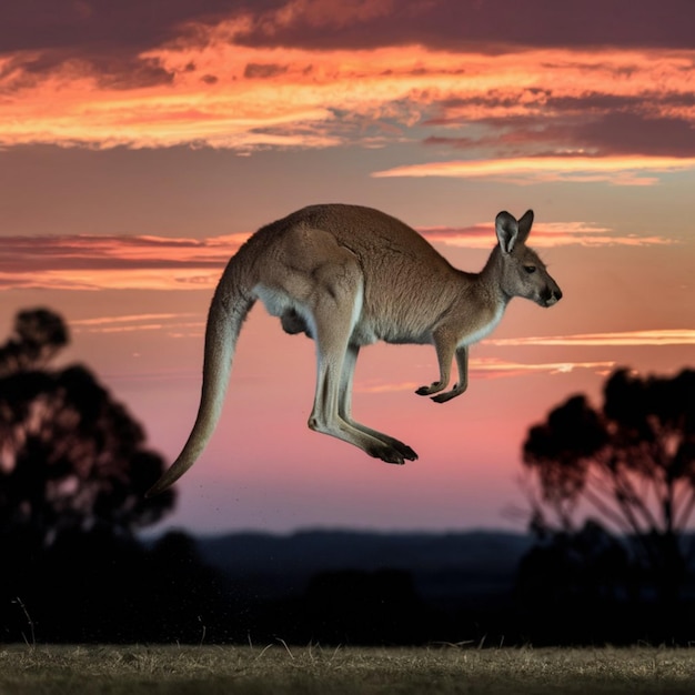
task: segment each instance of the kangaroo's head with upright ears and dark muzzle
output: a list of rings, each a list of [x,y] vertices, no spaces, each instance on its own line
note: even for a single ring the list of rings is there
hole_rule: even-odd
[[[562,290],[551,278],[538,254],[526,246],[533,224],[533,210],[515,220],[508,212],[495,219],[502,259],[501,289],[508,296],[523,296],[541,306],[552,306],[562,299]]]

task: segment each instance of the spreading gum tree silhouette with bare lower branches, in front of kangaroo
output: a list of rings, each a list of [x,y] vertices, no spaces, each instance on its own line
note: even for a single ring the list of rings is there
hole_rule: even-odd
[[[620,369],[603,395],[601,409],[574,395],[528,431],[531,527],[553,538],[555,552],[564,544],[565,563],[573,555],[584,571],[608,567],[613,582],[622,567],[673,606],[686,578],[684,531],[695,510],[695,371],[641,377]],[[594,518],[582,525],[587,514]],[[576,581],[577,573],[567,576]]]

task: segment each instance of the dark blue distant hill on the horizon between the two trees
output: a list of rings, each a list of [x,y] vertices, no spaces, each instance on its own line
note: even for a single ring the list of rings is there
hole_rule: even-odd
[[[202,560],[258,598],[302,594],[326,572],[407,572],[429,602],[449,603],[512,590],[527,535],[471,531],[375,533],[300,531],[199,537]]]

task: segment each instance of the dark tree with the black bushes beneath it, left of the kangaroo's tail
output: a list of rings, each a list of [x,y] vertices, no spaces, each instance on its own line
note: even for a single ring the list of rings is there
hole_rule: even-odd
[[[138,541],[175,493],[144,497],[164,462],[89,369],[48,369],[68,335],[36,309],[0,346],[0,639],[199,641],[216,575],[183,534]]]

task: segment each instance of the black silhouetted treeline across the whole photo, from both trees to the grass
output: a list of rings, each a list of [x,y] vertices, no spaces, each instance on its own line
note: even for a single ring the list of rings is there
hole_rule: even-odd
[[[37,309],[20,312],[0,345],[0,641],[693,638],[692,370],[647,379],[618,370],[601,407],[575,395],[531,427],[523,463],[534,542],[503,577],[454,562],[423,584],[403,561],[315,566],[299,581],[231,571],[243,554],[212,566],[183,533],[140,540],[175,503],[172,491],[144,497],[164,462],[88,367],[51,369],[68,340],[61,316]],[[595,514],[584,521],[587,505]]]

